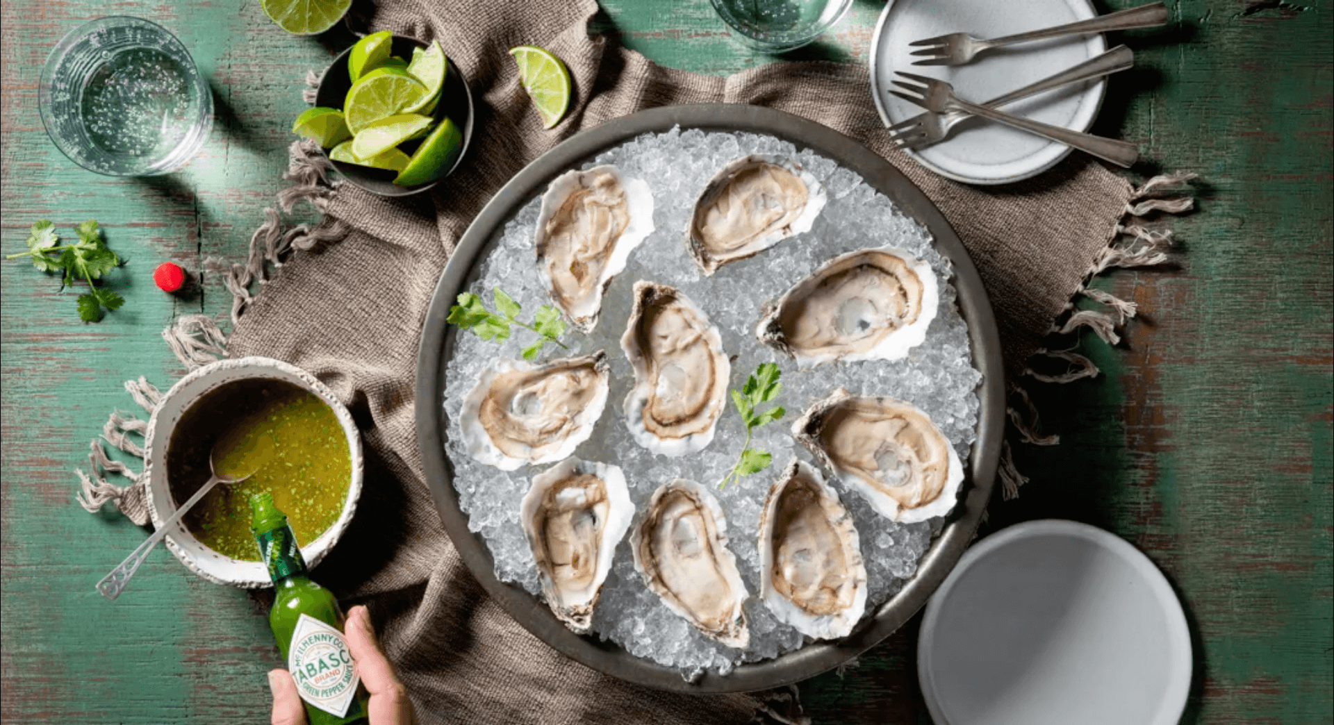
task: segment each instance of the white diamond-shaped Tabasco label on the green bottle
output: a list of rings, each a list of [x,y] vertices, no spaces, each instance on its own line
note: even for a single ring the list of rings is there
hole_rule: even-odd
[[[287,670],[301,700],[332,714],[347,714],[362,678],[352,670],[352,654],[343,633],[301,614],[287,649]]]

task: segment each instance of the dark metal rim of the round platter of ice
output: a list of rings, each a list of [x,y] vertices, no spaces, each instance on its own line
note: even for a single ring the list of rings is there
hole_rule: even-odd
[[[444,453],[442,397],[446,361],[455,339],[446,317],[458,293],[476,279],[474,268],[483,259],[483,251],[488,248],[496,231],[564,171],[578,168],[602,151],[635,136],[666,132],[675,125],[683,129],[764,133],[791,141],[798,148],[808,148],[862,175],[902,212],[923,224],[935,239],[939,252],[954,265],[954,285],[958,289],[959,309],[968,323],[972,361],[983,374],[978,389],[982,404],[978,440],[972,445],[962,497],[922,558],[916,576],[842,640],[810,642],[772,660],[739,665],[728,674],[708,670],[690,682],[678,670],[635,657],[614,642],[570,632],[539,597],[516,584],[496,578],[491,552],[478,534],[468,530],[468,517],[459,509],[452,485],[454,469]],[[686,693],[747,692],[806,680],[852,660],[902,626],[926,604],[959,561],[982,520],[1000,453],[1003,413],[1000,340],[991,304],[976,268],[939,209],[888,161],[852,139],[820,124],[754,105],[700,104],[642,111],[578,133],[528,164],[491,199],[459,240],[436,285],[418,351],[416,421],[422,465],[440,520],[472,574],[515,621],[560,653],[612,677]],[[734,537],[735,541],[746,538]]]

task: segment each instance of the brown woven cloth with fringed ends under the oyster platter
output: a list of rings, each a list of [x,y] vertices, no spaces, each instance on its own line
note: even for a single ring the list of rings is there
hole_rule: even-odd
[[[1109,244],[1137,192],[1079,153],[998,189],[946,181],[890,148],[863,67],[774,63],[731,77],[662,68],[590,37],[594,0],[382,0],[368,12],[350,21],[440,41],[471,84],[478,132],[463,168],[410,201],[334,188],[319,155],[293,145],[289,177],[299,188],[280,199],[312,200],[323,221],[281,235],[269,212],[252,245],[253,275],[233,277],[239,317],[228,355],[264,355],[309,370],[347,404],[364,436],[360,506],[316,577],[346,602],[370,605],[423,722],[716,725],[772,717],[762,697],[667,694],[586,669],[515,624],[463,565],[423,480],[414,420],[418,336],[455,240],[514,173],[580,129],[656,105],[767,105],[860,140],[940,207],[982,273],[1015,376],[1085,277],[1126,259]],[[576,97],[554,131],[542,128],[519,88],[506,51],[520,44],[547,48],[570,67]],[[268,277],[264,257],[285,264],[251,299],[243,285]],[[120,445],[123,432],[136,429],[141,421],[113,417],[105,440]],[[97,474],[105,458],[93,448],[96,481],[84,478],[85,505],[109,497],[136,517],[129,509],[135,496],[141,506],[141,492],[107,485]],[[109,470],[125,473],[117,464]]]

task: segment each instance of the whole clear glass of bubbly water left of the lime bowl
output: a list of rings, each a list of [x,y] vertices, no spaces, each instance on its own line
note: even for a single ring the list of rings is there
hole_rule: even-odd
[[[56,148],[108,176],[176,171],[213,125],[213,96],[189,52],[137,17],[71,31],[47,57],[37,105]]]

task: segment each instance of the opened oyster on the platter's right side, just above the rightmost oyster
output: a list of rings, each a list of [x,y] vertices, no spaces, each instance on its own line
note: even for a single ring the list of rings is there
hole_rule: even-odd
[[[858,249],[820,265],[767,305],[755,336],[799,366],[898,360],[926,340],[940,307],[931,265],[902,249]]]

